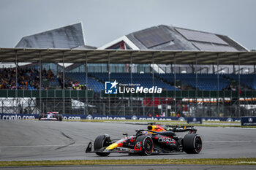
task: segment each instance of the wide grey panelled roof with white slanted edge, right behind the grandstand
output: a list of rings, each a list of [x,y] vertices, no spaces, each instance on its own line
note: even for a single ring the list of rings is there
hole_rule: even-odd
[[[133,50],[248,51],[229,36],[165,25],[132,32],[99,49],[113,49],[121,41]]]

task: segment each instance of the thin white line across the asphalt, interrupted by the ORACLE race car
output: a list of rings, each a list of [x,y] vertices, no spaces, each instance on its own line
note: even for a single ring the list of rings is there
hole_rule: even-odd
[[[248,143],[248,142],[256,142],[256,141],[203,141],[203,143]],[[54,144],[54,145],[34,145],[34,146],[7,146],[0,148],[19,148],[19,147],[75,147],[75,146],[85,146],[86,144]]]

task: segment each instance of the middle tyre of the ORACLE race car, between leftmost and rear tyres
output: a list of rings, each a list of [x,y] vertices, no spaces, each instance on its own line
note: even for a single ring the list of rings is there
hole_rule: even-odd
[[[135,144],[136,144],[135,147],[138,150],[141,150],[141,152],[139,152],[140,155],[151,155],[151,153],[153,152],[154,144],[150,136],[147,136],[147,135],[138,136],[135,141]]]

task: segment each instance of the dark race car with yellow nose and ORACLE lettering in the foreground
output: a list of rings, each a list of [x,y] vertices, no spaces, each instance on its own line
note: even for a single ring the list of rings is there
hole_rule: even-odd
[[[175,132],[188,131],[183,138]],[[147,130],[136,130],[136,134],[116,139],[113,142],[108,134],[97,136],[94,141],[94,151],[91,142],[86,152],[95,152],[99,156],[108,156],[110,152],[138,153],[151,155],[171,152],[199,153],[202,150],[202,139],[196,134],[194,126],[184,125],[157,125],[149,123]]]

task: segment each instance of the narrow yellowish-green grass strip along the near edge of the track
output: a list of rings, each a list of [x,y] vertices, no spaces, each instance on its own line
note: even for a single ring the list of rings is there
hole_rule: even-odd
[[[256,158],[222,159],[132,159],[132,160],[74,160],[74,161],[0,161],[0,166],[65,166],[65,165],[256,165]]]

